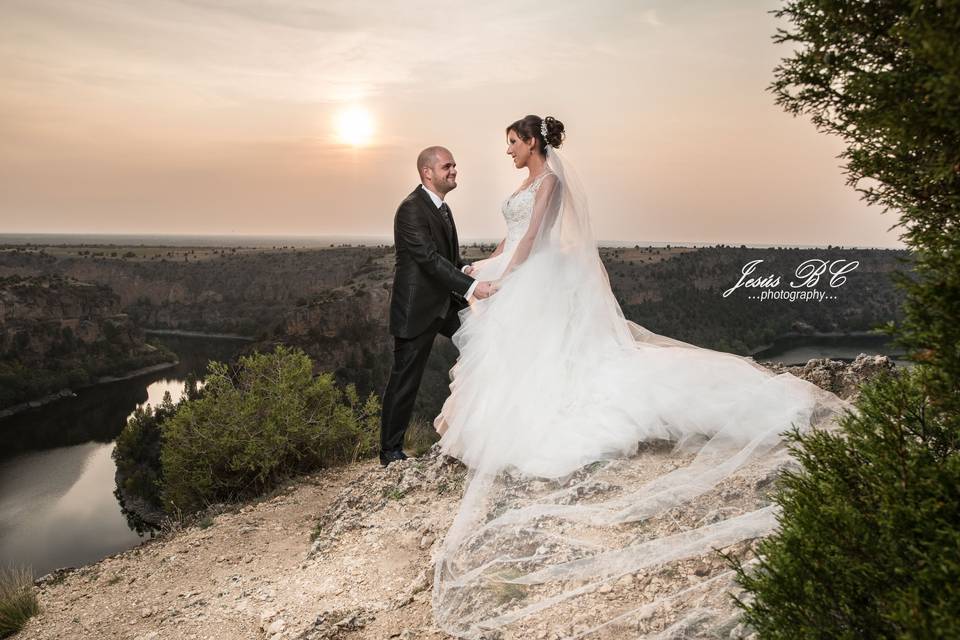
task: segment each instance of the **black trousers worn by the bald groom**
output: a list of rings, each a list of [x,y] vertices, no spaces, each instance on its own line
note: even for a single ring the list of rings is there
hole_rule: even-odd
[[[380,414],[380,450],[403,449],[403,437],[413,414],[420,381],[427,368],[430,349],[437,334],[451,337],[460,328],[456,306],[446,317],[436,318],[427,329],[413,338],[393,337],[393,369],[383,392]]]

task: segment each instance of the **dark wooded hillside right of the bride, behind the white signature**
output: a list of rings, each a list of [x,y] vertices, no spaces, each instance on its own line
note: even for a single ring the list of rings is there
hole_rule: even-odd
[[[900,319],[903,293],[890,273],[903,269],[905,251],[876,249],[755,249],[704,247],[669,260],[642,264],[636,250],[607,250],[604,261],[624,315],[656,333],[708,349],[749,355],[758,347],[797,331],[867,331]],[[762,260],[753,277],[776,274],[781,289],[802,278],[796,269],[810,260],[859,263],[847,282],[831,288],[827,277],[812,290],[822,301],[757,300],[757,289],[741,287],[724,297],[741,277],[744,265]],[[837,264],[840,264],[837,262]]]

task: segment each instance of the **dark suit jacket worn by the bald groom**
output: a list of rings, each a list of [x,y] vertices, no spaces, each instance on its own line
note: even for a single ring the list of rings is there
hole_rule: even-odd
[[[467,304],[463,295],[473,278],[460,271],[457,225],[453,242],[447,237],[440,211],[426,190],[417,186],[404,198],[393,218],[396,272],[390,296],[390,333],[412,338],[423,333],[435,318],[446,317]]]

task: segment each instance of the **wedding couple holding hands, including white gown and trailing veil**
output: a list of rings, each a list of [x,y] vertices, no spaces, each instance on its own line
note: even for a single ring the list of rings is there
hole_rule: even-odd
[[[600,629],[628,615],[590,600],[601,586],[765,535],[772,508],[736,487],[761,486],[756,477],[785,464],[791,426],[826,426],[851,408],[789,373],[626,319],[584,189],[557,150],[563,123],[529,115],[505,133],[527,175],[503,202],[506,231],[492,255],[470,265],[460,256],[444,201],[456,163],[442,147],[420,154],[421,184],[394,218],[380,462],[406,458],[431,345],[438,333],[450,338],[459,354],[434,427],[440,451],[468,473],[432,552],[432,604],[436,623],[462,638],[583,612]],[[663,442],[675,453],[648,457]],[[699,513],[712,500],[729,516]],[[684,518],[689,528],[674,531]],[[644,530],[651,522],[665,528]]]

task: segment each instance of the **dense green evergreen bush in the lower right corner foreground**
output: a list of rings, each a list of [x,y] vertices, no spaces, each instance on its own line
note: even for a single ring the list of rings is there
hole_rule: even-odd
[[[779,531],[734,563],[763,638],[960,637],[960,455],[926,369],[863,386],[840,432],[790,434]]]

